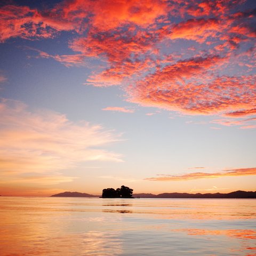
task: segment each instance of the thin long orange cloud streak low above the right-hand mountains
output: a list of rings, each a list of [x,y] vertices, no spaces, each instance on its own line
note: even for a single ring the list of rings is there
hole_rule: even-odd
[[[206,173],[206,172],[193,172],[182,175],[161,175],[155,178],[146,178],[145,180],[151,181],[181,181],[181,180],[197,180],[197,179],[215,179],[222,177],[232,176],[246,176],[256,175],[256,167],[252,168],[240,168],[232,170],[223,170],[221,172]]]

